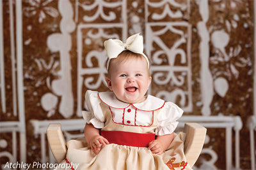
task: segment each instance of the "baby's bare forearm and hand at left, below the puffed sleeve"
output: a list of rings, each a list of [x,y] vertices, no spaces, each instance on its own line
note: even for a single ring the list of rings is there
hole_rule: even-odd
[[[100,136],[99,129],[95,128],[92,124],[86,124],[84,127],[84,136],[88,144],[91,146],[93,153],[97,154],[100,151],[101,145],[109,144],[108,140]]]

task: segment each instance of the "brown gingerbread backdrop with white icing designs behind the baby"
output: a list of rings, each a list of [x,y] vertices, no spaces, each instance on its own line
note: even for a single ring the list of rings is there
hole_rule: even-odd
[[[252,169],[253,6],[252,0],[0,1],[1,169],[6,162],[54,162],[49,122],[61,122],[67,139],[83,136],[86,90],[107,90],[104,40],[137,32],[152,60],[148,93],[185,111],[180,127],[207,127],[195,169]]]

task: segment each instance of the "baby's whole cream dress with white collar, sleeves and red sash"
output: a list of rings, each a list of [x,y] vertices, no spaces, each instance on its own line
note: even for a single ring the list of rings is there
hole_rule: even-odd
[[[150,95],[143,103],[129,104],[116,99],[113,92],[88,90],[86,105],[89,111],[83,112],[84,120],[101,129],[102,136],[111,144],[95,155],[84,138],[68,141],[67,158],[62,164],[79,164],[77,169],[83,170],[191,169],[184,157],[184,134],[175,134],[172,144],[161,155],[147,148],[152,136],[172,134],[177,127],[183,111],[176,104]]]

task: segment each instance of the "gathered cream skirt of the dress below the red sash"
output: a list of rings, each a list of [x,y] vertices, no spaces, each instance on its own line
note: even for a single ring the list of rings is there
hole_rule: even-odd
[[[168,149],[161,155],[153,154],[147,147],[116,145],[111,143],[102,147],[95,155],[85,139],[68,141],[66,159],[57,169],[73,170],[161,170],[191,169],[184,156],[186,134],[174,134]]]

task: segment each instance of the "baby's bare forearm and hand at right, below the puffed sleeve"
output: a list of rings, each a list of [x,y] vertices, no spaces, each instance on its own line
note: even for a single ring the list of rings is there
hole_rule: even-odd
[[[168,146],[170,146],[172,140],[173,133],[163,136],[157,136],[155,140],[151,141],[148,144],[148,149],[150,149],[152,153],[157,153],[157,155],[161,155],[168,148]]]

